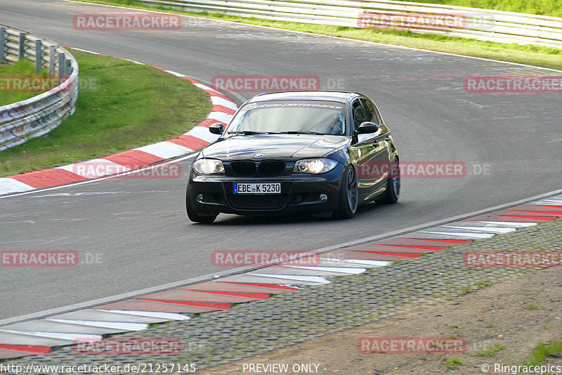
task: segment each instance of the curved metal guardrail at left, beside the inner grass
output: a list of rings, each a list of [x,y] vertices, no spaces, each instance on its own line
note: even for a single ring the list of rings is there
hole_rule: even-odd
[[[51,132],[76,107],[79,81],[74,56],[48,39],[0,25],[0,63],[15,63],[22,58],[34,61],[37,73],[48,68],[48,78],[58,80],[58,86],[25,101],[0,106],[0,151]]]

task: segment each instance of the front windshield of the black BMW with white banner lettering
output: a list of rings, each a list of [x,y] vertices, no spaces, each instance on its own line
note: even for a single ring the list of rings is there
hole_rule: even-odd
[[[261,101],[242,108],[227,134],[346,134],[343,103],[336,101]]]

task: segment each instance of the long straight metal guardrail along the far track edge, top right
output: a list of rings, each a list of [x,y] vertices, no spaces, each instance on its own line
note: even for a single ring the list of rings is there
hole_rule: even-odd
[[[346,27],[411,30],[562,49],[562,18],[391,0],[140,0],[150,6]]]

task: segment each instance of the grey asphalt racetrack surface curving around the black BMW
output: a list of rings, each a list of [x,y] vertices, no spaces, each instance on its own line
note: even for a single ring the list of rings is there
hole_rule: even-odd
[[[556,72],[187,17],[175,31],[72,27],[77,13],[120,12],[131,13],[67,1],[2,0],[0,23],[206,84],[218,75],[318,76],[324,88],[374,98],[401,160],[463,162],[466,176],[403,178],[397,205],[367,205],[352,220],[219,215],[215,224],[192,224],[185,215],[187,177],[107,179],[0,198],[1,250],[76,250],[84,262],[2,267],[0,319],[224,271],[211,264],[214,250],[313,250],[561,186],[559,95],[463,89],[469,75]],[[226,94],[239,104],[254,95]],[[190,160],[181,163],[185,174]],[[91,262],[96,255],[98,262]]]

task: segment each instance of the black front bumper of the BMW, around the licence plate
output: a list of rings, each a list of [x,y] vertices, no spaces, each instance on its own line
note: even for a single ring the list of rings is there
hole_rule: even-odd
[[[336,210],[344,166],[323,174],[292,174],[280,177],[228,177],[196,174],[190,171],[186,199],[197,212],[238,215],[326,212]],[[233,183],[280,182],[280,194],[234,194]],[[327,200],[321,201],[320,194]],[[202,199],[197,199],[201,194]]]

